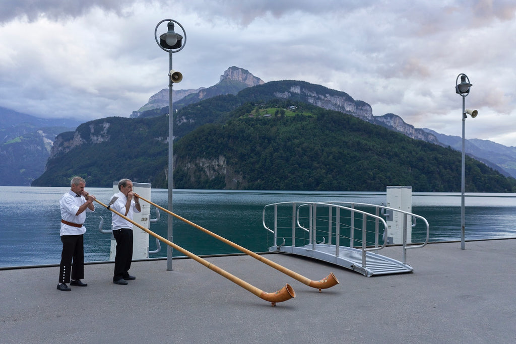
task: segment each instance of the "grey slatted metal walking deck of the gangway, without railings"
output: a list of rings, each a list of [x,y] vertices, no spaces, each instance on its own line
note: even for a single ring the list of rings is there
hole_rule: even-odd
[[[344,268],[357,271],[364,276],[386,275],[395,273],[412,273],[414,269],[398,260],[382,256],[378,253],[365,253],[365,267],[362,266],[362,250],[340,246],[338,256],[335,255],[335,245],[316,244],[315,250],[312,245],[301,247],[272,246],[270,252],[283,252],[297,254],[318,260],[327,261]]]

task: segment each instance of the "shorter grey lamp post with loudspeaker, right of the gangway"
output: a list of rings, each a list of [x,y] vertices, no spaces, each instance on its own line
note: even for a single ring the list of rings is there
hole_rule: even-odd
[[[460,84],[459,84],[460,77]],[[464,108],[465,105],[465,97],[470,94],[470,88],[473,86],[470,84],[470,79],[466,74],[461,73],[457,76],[455,80],[455,92],[462,97],[462,164],[461,164],[461,200],[460,200],[460,226],[461,226],[461,236],[460,236],[460,248],[464,250],[464,236],[465,236],[465,209],[464,209],[464,191],[465,191],[465,145],[464,145],[464,133],[465,133],[465,121],[467,114],[469,113],[472,118],[477,117],[477,110],[466,110]]]

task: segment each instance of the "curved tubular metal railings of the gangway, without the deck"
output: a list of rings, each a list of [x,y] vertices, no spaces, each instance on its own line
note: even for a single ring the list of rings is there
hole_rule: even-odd
[[[341,247],[359,248],[362,250],[362,266],[365,267],[366,252],[379,251],[388,243],[388,225],[383,217],[389,219],[394,212],[404,215],[401,248],[403,263],[406,264],[407,250],[424,247],[430,234],[428,221],[411,212],[367,203],[281,202],[263,208],[262,222],[264,228],[273,234],[276,247],[287,243],[295,247],[301,243],[302,246],[311,244],[315,250],[319,240],[319,244],[334,244],[335,256],[339,255]],[[408,226],[410,222],[410,226],[415,227],[417,219],[426,226],[426,239],[421,244],[412,245],[407,243]],[[271,222],[272,225],[268,225]],[[278,239],[283,242],[278,244]]]

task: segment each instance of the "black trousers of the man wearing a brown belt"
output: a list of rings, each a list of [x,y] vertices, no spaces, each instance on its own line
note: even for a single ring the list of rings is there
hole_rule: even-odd
[[[59,283],[70,283],[70,275],[72,280],[84,279],[84,235],[61,235],[61,242]]]

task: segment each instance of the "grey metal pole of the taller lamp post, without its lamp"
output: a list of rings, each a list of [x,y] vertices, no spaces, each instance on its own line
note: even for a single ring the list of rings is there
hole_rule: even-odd
[[[169,50],[169,71],[172,70],[172,49]],[[173,141],[173,120],[172,120],[172,78],[170,77],[170,74],[168,74],[168,210],[172,212],[172,191],[173,191],[173,168],[172,168],[172,156],[173,156],[173,149],[172,149],[172,141]],[[168,217],[168,231],[167,231],[167,239],[171,242],[174,242],[172,240],[172,220],[173,217]],[[167,270],[172,270],[172,247],[169,245],[167,247]]]

